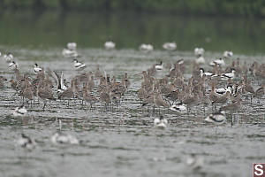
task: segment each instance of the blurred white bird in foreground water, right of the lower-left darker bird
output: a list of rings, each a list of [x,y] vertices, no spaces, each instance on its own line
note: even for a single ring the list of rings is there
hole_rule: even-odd
[[[79,144],[79,140],[73,135],[65,135],[61,132],[57,132],[52,135],[50,141],[55,144]]]

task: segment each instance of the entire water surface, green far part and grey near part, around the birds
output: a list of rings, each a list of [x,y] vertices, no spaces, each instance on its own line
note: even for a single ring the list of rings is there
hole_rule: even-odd
[[[217,22],[224,19],[197,21],[156,15],[143,15],[137,20],[131,15],[79,16],[73,13],[64,17],[44,13],[33,18],[30,13],[15,13],[8,18],[8,14],[1,16],[0,29],[5,33],[0,33],[0,50],[14,54],[22,73],[33,74],[34,62],[38,62],[45,68],[63,71],[70,81],[77,73],[72,61],[63,58],[61,51],[66,42],[75,41],[88,65],[86,71],[94,71],[95,65],[99,64],[106,73],[117,75],[118,80],[127,71],[132,85],[114,110],[105,111],[100,103],[89,110],[79,100],[72,100],[69,107],[67,102],[50,102],[43,112],[40,102],[33,107],[27,105],[27,118],[14,119],[11,112],[22,100],[11,97],[14,91],[6,84],[7,87],[0,91],[1,176],[251,176],[252,163],[265,161],[265,114],[264,106],[258,100],[249,104],[249,100],[244,99],[232,127],[230,115],[221,127],[206,124],[203,119],[212,112],[210,106],[205,112],[202,106],[193,107],[189,115],[162,110],[164,117],[169,119],[169,127],[160,130],[153,127],[158,112],[140,106],[135,93],[140,89],[140,76],[133,76],[147,70],[157,58],[162,58],[164,63],[174,63],[180,58],[193,59],[193,52],[179,50],[193,50],[197,44],[206,50],[220,52],[229,47],[240,54],[234,58],[247,60],[249,64],[255,59],[262,61],[261,55],[241,55],[262,53],[260,42],[254,41],[262,27],[257,27],[255,33],[249,35],[249,26],[236,25],[243,25],[243,19],[231,20],[226,26]],[[208,27],[208,23],[212,26]],[[135,25],[131,27],[131,24]],[[35,30],[30,31],[31,28]],[[212,39],[210,43],[204,41],[208,35]],[[99,49],[108,39],[117,42],[117,47],[122,50]],[[178,42],[179,50],[155,50],[149,54],[135,50],[141,42],[151,42],[161,48],[165,41]],[[205,58],[210,61],[220,55],[206,52]],[[3,60],[0,64],[0,74],[11,79],[13,74],[7,64]],[[165,73],[163,70],[156,77]],[[187,66],[187,75],[189,73],[190,65]],[[254,82],[254,86],[256,89],[258,83]],[[64,133],[75,135],[81,144],[54,145],[50,142],[50,136],[59,128],[57,118],[63,121]],[[34,150],[24,150],[17,145],[21,133],[36,140]],[[200,170],[186,165],[191,154],[203,158]]]

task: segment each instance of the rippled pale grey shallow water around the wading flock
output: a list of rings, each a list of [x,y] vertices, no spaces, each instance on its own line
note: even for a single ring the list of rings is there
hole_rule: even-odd
[[[77,72],[73,70],[72,61],[61,56],[61,50],[12,48],[22,73],[33,74],[34,62],[38,62],[45,68],[63,71],[70,81]],[[53,101],[42,111],[42,102],[36,102],[33,106],[27,105],[26,118],[14,119],[11,112],[22,100],[12,97],[14,91],[6,84],[7,88],[0,91],[1,176],[251,176],[252,163],[265,161],[262,99],[261,104],[255,99],[249,104],[249,100],[244,99],[235,119],[228,115],[227,123],[220,127],[203,120],[212,112],[210,106],[205,112],[202,106],[193,107],[184,115],[162,109],[169,127],[164,130],[153,127],[153,119],[159,113],[140,106],[136,96],[140,76],[133,74],[147,70],[157,58],[162,58],[164,63],[173,63],[179,58],[189,61],[193,58],[192,52],[78,51],[88,65],[86,71],[94,71],[95,65],[101,65],[102,71],[116,75],[117,80],[128,72],[132,85],[121,104],[106,111],[100,103],[90,110],[79,100],[72,100],[70,106],[67,101]],[[206,52],[205,57],[209,61],[220,55]],[[263,58],[239,55],[234,58],[237,57],[248,60],[249,64]],[[8,80],[13,76],[3,59],[0,71]],[[189,64],[186,71],[188,77]],[[163,70],[156,78],[165,73]],[[57,119],[62,119],[62,131],[75,135],[81,144],[54,145],[50,142],[50,136],[59,129]],[[24,150],[17,145],[21,133],[36,140],[34,150]],[[203,158],[201,169],[186,165],[191,154]]]

